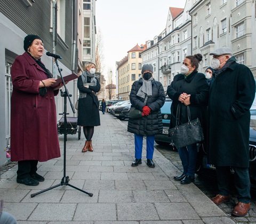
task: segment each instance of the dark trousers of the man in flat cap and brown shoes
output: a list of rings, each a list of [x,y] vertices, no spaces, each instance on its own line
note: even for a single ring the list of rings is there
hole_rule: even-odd
[[[251,201],[251,182],[249,177],[249,169],[243,167],[232,167],[235,171],[234,173],[234,185],[238,193],[238,202],[248,204]],[[217,166],[217,181],[219,194],[223,196],[228,196],[230,194],[231,184],[231,173],[230,166]]]

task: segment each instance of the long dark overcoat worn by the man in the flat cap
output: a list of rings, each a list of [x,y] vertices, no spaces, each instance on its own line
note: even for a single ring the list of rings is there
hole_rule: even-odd
[[[250,108],[255,81],[236,62],[210,85],[208,159],[216,166],[249,167]]]

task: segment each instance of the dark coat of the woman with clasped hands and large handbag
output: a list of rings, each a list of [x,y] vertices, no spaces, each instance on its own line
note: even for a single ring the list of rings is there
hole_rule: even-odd
[[[180,105],[180,123],[188,122],[187,106],[181,103],[178,99],[180,94],[190,94],[190,118],[191,120],[199,118],[203,127],[204,135],[206,135],[206,118],[207,118],[207,102],[209,98],[209,84],[205,75],[193,71],[185,77],[183,74],[175,75],[171,85],[167,87],[167,94],[173,100],[171,106],[170,129],[175,127],[177,107]]]

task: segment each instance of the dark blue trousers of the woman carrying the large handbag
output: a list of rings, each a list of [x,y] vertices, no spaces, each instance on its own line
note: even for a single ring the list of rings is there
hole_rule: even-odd
[[[195,177],[197,157],[196,144],[180,148],[178,151],[183,166],[183,173],[190,177]]]

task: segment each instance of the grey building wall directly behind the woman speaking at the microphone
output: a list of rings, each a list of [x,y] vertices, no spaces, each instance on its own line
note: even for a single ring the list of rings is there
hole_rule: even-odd
[[[57,7],[55,4],[57,3]],[[54,7],[53,7],[54,6]],[[55,13],[55,15],[54,15]],[[55,18],[55,19],[54,19]],[[0,0],[0,167],[9,162],[4,149],[10,148],[10,111],[11,111],[11,68],[17,55],[23,54],[23,39],[28,34],[36,34],[43,39],[45,52],[61,55],[59,66],[62,76],[71,74],[73,1],[5,1]],[[43,55],[42,61],[55,78],[60,77],[52,57]],[[67,84],[69,93],[75,92],[74,83]],[[56,97],[57,120],[63,112],[63,98]],[[74,99],[71,98],[74,102]],[[70,116],[71,108],[67,108]]]

